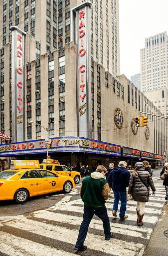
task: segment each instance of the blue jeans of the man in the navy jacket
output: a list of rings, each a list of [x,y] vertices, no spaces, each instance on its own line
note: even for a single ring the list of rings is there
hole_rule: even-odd
[[[126,206],[127,206],[127,192],[113,191],[114,193],[114,204],[113,210],[118,210],[119,201],[121,201],[120,206],[120,218],[125,216]]]

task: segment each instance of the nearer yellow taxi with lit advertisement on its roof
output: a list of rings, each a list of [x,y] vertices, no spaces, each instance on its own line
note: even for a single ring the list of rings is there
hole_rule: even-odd
[[[11,160],[10,169],[0,172],[0,200],[25,202],[28,197],[75,187],[70,176],[42,170],[38,160]]]

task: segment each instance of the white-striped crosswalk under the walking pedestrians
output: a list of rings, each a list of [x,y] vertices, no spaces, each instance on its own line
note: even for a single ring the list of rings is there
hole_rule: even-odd
[[[71,256],[83,219],[83,202],[78,184],[54,206],[17,216],[0,218],[0,255],[5,256]],[[137,226],[136,202],[127,203],[128,219],[112,216],[114,195],[106,202],[114,238],[104,240],[102,221],[94,216],[85,240],[86,256],[142,256],[155,224],[162,215],[165,189],[155,179],[156,196],[146,203],[144,225]],[[57,195],[54,195],[57,196]],[[119,205],[120,207],[120,205]],[[76,254],[76,253],[75,253]]]

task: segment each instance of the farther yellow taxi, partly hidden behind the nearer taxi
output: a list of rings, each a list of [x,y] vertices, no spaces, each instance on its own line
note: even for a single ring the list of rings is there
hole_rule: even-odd
[[[63,176],[70,176],[74,179],[75,183],[78,184],[80,181],[80,172],[71,171],[67,166],[59,164],[58,160],[43,159],[40,164],[41,169],[52,171],[56,174]]]

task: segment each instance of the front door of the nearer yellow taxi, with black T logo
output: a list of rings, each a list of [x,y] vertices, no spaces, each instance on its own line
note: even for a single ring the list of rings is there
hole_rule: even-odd
[[[44,192],[49,193],[57,190],[62,190],[62,179],[53,172],[40,170],[42,179],[44,180]]]

